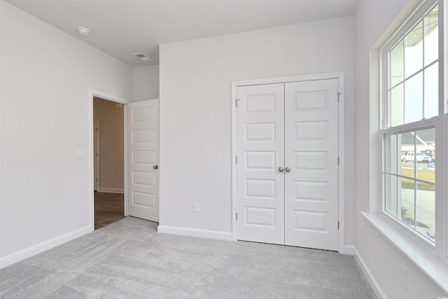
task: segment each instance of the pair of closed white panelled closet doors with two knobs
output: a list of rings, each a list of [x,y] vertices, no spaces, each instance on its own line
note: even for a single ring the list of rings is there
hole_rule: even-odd
[[[237,239],[337,251],[338,87],[237,87]]]

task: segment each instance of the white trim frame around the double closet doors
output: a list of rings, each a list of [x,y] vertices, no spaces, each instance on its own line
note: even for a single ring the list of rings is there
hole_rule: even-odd
[[[291,76],[281,78],[266,78],[247,81],[232,82],[232,239],[237,241],[237,88],[247,85],[263,85],[276,83],[290,83],[300,81],[315,81],[338,79],[339,84],[339,108],[338,108],[338,153],[339,153],[339,169],[338,169],[338,218],[339,218],[339,236],[338,248],[339,253],[346,253],[345,250],[345,155],[344,155],[344,140],[345,140],[345,118],[344,118],[344,96],[345,83],[344,72],[327,73],[327,74],[311,74],[302,76]],[[347,252],[348,253],[348,252]]]

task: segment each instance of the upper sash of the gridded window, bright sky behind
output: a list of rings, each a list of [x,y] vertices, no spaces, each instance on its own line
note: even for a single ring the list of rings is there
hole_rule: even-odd
[[[388,124],[438,115],[438,9],[433,8],[388,50]]]

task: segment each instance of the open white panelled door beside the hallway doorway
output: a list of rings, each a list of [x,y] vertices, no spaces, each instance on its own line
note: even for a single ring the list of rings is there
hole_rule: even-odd
[[[159,221],[159,99],[127,105],[128,214]]]

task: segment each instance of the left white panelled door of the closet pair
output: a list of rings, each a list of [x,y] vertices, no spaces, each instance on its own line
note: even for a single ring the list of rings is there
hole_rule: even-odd
[[[237,88],[238,239],[284,244],[284,85]]]

